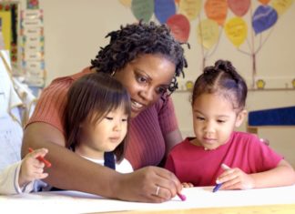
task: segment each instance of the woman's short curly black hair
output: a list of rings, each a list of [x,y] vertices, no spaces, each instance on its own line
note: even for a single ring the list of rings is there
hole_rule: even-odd
[[[183,68],[188,66],[184,49],[171,34],[168,25],[156,25],[154,22],[130,24],[107,34],[110,42],[91,60],[91,68],[111,74],[127,65],[137,56],[160,54],[176,65],[175,76],[168,88],[170,93],[178,88],[177,76],[184,76]]]

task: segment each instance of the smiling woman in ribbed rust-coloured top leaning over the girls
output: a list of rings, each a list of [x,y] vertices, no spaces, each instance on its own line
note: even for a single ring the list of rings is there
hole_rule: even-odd
[[[49,149],[47,158],[53,167],[48,169],[46,182],[56,188],[116,199],[150,202],[171,199],[181,189],[178,179],[163,168],[143,167],[158,165],[169,149],[182,140],[167,95],[177,88],[176,77],[187,66],[183,48],[166,25],[154,23],[121,26],[107,36],[110,43],[101,48],[91,61],[92,66],[76,75],[57,78],[44,90],[25,128],[22,153],[28,147]],[[120,175],[64,148],[61,118],[66,91],[77,78],[90,72],[108,73],[127,87],[133,119],[126,158],[133,168],[141,168],[134,173]]]

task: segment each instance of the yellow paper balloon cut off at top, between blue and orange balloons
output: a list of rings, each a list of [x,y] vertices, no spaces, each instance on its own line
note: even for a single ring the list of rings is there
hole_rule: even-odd
[[[200,0],[181,0],[179,2],[179,13],[186,15],[191,21],[197,18],[200,13],[202,1]]]

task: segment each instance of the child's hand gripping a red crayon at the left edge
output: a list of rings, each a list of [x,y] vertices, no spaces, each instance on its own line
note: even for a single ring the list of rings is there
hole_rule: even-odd
[[[39,148],[25,155],[18,178],[20,188],[35,179],[43,179],[48,176],[48,173],[43,171],[45,164],[37,159],[39,156],[45,157],[47,152],[46,148]]]

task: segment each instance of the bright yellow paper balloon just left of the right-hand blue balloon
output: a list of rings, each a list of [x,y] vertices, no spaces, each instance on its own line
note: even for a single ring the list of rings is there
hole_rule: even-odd
[[[247,24],[240,17],[233,17],[225,24],[225,33],[229,41],[239,47],[247,37]]]

